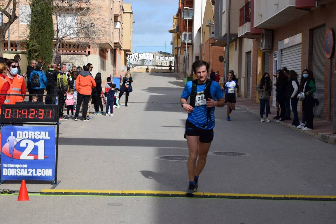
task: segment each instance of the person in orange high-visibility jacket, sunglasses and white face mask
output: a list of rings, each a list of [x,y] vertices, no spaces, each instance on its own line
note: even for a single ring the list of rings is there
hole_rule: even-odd
[[[6,80],[9,82],[9,89],[7,94],[26,94],[26,83],[23,80],[22,76],[17,75],[18,71],[18,62],[14,59],[10,59],[6,61],[7,65],[7,76]],[[5,104],[15,104],[15,102],[22,102],[22,96],[7,96],[4,103]]]

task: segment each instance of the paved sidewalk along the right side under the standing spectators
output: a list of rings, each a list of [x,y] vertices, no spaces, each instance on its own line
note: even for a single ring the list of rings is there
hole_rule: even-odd
[[[184,80],[184,74],[183,73],[175,73],[177,76],[181,77]],[[260,110],[260,104],[257,102],[252,102],[250,99],[247,98],[236,98],[236,106],[237,108],[244,109],[246,111],[249,111],[252,114],[255,114],[259,118],[259,110]],[[277,111],[275,107],[271,107],[271,114],[269,115],[269,120],[271,122],[275,122],[275,120],[271,119],[272,117],[277,115]],[[291,113],[291,118],[293,119],[293,113]],[[299,120],[302,121],[302,115],[299,113]],[[279,125],[287,126],[288,128],[291,128],[295,131],[299,131],[302,133],[305,133],[307,135],[310,135],[314,138],[317,138],[321,141],[327,142],[329,144],[336,144],[336,134],[332,134],[333,131],[333,123],[331,121],[327,121],[323,118],[315,118],[314,117],[314,129],[309,131],[303,131],[301,129],[298,129],[296,127],[290,127],[292,124],[292,120],[286,120],[285,122],[279,123]]]

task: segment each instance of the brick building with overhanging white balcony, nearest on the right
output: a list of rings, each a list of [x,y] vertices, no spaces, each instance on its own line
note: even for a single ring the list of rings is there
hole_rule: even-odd
[[[268,66],[266,64],[265,71],[275,73],[277,69],[286,66],[301,75],[304,69],[312,70],[320,102],[313,109],[314,116],[332,120],[336,1],[251,0],[251,6],[254,7],[251,11],[253,27],[264,30],[253,42],[253,50],[268,52],[266,57],[269,57],[269,63]],[[252,56],[255,62],[253,74],[257,74],[260,69],[259,56],[257,53]],[[252,77],[252,84],[257,82],[258,78]],[[251,95],[251,100],[256,100],[255,93]],[[272,101],[275,105],[274,98]]]

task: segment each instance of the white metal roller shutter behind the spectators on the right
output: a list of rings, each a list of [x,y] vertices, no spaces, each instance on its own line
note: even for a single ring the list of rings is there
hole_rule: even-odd
[[[301,44],[297,44],[281,50],[281,68],[287,67],[288,70],[294,70],[301,77]],[[297,105],[300,111],[300,103]]]

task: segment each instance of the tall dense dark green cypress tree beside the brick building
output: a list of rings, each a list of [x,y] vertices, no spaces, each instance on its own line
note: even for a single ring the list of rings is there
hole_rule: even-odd
[[[27,41],[28,61],[38,58],[49,64],[52,59],[54,37],[51,0],[32,0],[29,40]]]

